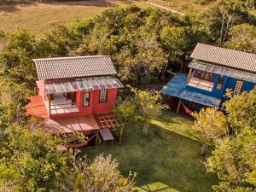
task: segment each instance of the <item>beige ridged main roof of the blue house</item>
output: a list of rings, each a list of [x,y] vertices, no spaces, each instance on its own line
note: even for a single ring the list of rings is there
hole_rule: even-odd
[[[256,55],[239,50],[224,49],[209,44],[197,44],[191,57],[256,73]]]

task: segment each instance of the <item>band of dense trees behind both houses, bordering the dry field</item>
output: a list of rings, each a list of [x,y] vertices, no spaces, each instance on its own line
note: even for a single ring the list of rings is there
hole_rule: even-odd
[[[32,58],[111,55],[121,80],[148,84],[183,70],[197,42],[255,51],[253,16],[239,0],[216,1],[201,13],[178,16],[157,9],[108,9],[91,20],[57,26],[42,38],[25,30],[2,34],[0,75],[34,88]],[[237,26],[238,25],[238,26]]]

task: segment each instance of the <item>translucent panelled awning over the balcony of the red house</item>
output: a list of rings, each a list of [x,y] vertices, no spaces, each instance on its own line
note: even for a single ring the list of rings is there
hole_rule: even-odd
[[[111,76],[102,76],[45,83],[45,93],[55,94],[78,90],[102,90],[123,87],[124,85],[119,81],[119,79]]]

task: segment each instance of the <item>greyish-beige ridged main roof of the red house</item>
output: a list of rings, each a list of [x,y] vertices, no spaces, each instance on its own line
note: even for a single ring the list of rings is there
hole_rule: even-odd
[[[38,79],[64,79],[113,75],[116,70],[110,56],[55,57],[33,60]]]

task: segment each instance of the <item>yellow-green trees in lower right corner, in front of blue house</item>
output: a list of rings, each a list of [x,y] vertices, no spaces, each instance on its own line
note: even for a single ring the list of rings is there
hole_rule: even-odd
[[[216,148],[207,160],[208,171],[216,173],[220,180],[213,186],[215,191],[253,192],[256,188],[255,103],[256,88],[225,102],[227,116],[217,109],[211,109],[210,116],[210,110],[195,114],[195,126],[202,137],[218,137],[218,142],[214,143]],[[230,134],[225,134],[228,128]]]

